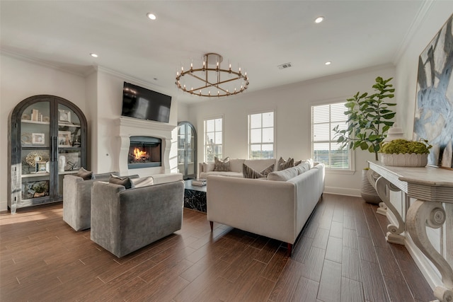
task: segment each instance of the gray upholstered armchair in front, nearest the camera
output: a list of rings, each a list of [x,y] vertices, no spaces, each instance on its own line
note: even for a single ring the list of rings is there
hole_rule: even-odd
[[[184,182],[135,187],[95,182],[91,240],[122,257],[180,230]]]

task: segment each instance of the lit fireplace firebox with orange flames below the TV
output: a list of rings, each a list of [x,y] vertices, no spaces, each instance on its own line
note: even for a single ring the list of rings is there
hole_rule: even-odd
[[[161,167],[161,145],[156,137],[130,137],[127,168]]]

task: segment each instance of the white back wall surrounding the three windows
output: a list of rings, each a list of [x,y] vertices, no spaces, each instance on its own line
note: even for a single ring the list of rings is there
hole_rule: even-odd
[[[224,115],[224,156],[247,158],[247,116],[260,110],[276,111],[276,156],[280,158],[311,157],[311,105],[341,102],[357,91],[372,92],[377,76],[394,76],[393,66],[377,66],[348,74],[326,77],[269,89],[244,93],[236,98],[210,100],[190,107],[190,122],[197,128],[198,162],[203,161],[203,121],[207,117]],[[251,80],[251,85],[253,82]],[[393,99],[395,100],[395,99]],[[355,151],[354,174],[326,173],[326,192],[360,196],[361,170],[374,153]]]

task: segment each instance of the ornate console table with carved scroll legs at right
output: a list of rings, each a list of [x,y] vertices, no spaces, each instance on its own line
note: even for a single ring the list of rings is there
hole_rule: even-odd
[[[388,226],[387,240],[404,244],[403,231],[408,231],[416,247],[440,272],[442,282],[435,286],[435,297],[442,302],[453,301],[453,269],[449,264],[453,262],[453,171],[435,167],[391,167],[372,161],[369,161],[369,168],[377,173],[369,179],[398,221],[398,226]],[[401,190],[416,199],[415,202],[406,199],[406,221],[391,204],[389,190]],[[426,233],[426,227],[440,228],[443,225],[446,226],[447,241],[445,257],[433,247]]]

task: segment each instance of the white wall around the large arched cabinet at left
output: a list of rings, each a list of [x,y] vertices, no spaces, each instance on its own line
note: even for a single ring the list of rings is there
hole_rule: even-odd
[[[25,98],[48,94],[65,98],[90,118],[82,76],[0,54],[0,211],[7,207],[8,116]]]

